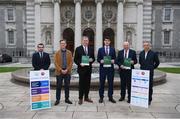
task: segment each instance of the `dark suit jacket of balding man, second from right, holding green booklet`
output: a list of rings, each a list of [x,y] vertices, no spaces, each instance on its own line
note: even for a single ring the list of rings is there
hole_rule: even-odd
[[[128,58],[134,61],[134,64],[131,64],[131,69],[134,69],[134,65],[137,64],[136,51],[129,49]],[[120,67],[124,63],[124,49],[118,52],[118,56],[116,58],[116,64]]]

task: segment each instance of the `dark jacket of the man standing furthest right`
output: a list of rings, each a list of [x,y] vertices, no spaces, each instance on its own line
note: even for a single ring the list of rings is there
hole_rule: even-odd
[[[159,66],[160,62],[157,53],[152,50],[149,50],[145,59],[145,51],[143,50],[139,54],[139,64],[141,69],[152,71]]]

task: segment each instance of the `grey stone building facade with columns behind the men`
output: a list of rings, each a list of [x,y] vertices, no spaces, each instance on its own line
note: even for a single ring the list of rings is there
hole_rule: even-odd
[[[145,40],[162,61],[179,60],[179,6],[178,0],[0,0],[0,53],[31,57],[42,42],[53,54],[61,38],[73,52],[88,34],[95,53],[110,36],[117,50],[127,40],[139,52]]]

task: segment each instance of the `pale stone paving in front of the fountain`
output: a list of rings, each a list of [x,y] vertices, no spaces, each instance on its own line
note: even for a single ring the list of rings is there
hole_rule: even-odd
[[[99,104],[98,91],[90,91],[94,103],[78,105],[78,91],[70,91],[72,105],[61,103],[54,106],[55,90],[51,89],[52,108],[31,111],[29,87],[13,83],[11,73],[0,73],[0,119],[180,119],[180,74],[167,74],[167,82],[154,87],[153,101],[146,108],[136,107],[126,101],[119,102],[120,91],[114,91],[116,104],[105,100]]]

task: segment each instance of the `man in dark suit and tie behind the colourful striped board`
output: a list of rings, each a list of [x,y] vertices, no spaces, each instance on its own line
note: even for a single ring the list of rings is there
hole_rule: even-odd
[[[32,66],[34,70],[48,70],[51,60],[49,54],[44,52],[44,44],[37,45],[38,51],[32,56]]]

